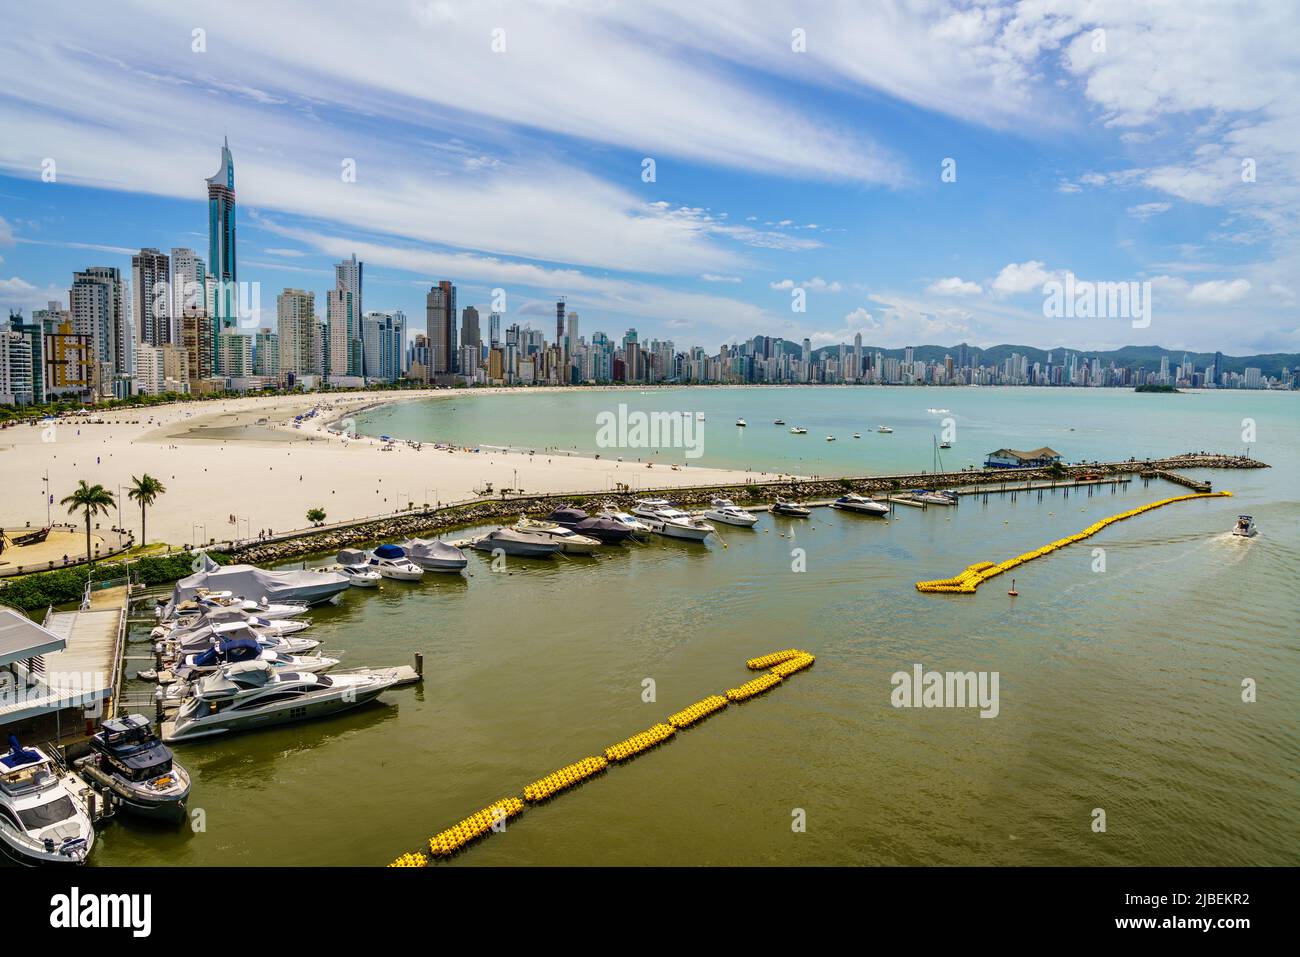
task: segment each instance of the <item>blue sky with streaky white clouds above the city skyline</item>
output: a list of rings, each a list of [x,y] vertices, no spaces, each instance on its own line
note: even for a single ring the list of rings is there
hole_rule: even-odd
[[[183,8],[183,9],[182,9]],[[1300,351],[1300,10],[1231,0],[8,4],[0,308],[140,247],[504,324]],[[355,177],[346,176],[347,168]],[[651,176],[653,172],[653,176]],[[51,176],[52,173],[52,176]],[[1149,282],[1149,324],[1044,283]],[[802,303],[803,309],[798,311]]]

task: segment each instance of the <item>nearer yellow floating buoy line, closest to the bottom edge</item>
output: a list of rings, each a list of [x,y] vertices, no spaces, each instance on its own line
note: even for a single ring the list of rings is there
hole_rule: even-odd
[[[446,831],[441,831],[430,837],[428,854],[421,850],[407,852],[393,861],[389,867],[428,867],[430,858],[451,857],[467,844],[478,840],[484,835],[491,831],[504,830],[506,820],[523,814],[528,804],[546,801],[562,791],[572,788],[576,784],[581,784],[589,778],[604,771],[610,766],[610,762],[629,761],[630,758],[663,744],[670,737],[676,735],[680,728],[686,728],[703,720],[708,715],[720,711],[727,707],[729,701],[746,701],[755,694],[762,694],[763,692],[775,688],[781,684],[783,679],[789,677],[797,671],[802,671],[812,664],[814,661],[816,659],[811,654],[801,651],[796,648],[763,655],[762,658],[750,658],[745,662],[745,664],[751,671],[760,671],[763,668],[771,668],[771,671],[766,675],[759,675],[753,681],[746,681],[740,688],[732,688],[727,692],[725,697],[722,694],[711,694],[707,698],[697,701],[694,705],[682,709],[681,711],[668,715],[667,722],[654,724],[649,729],[642,731],[640,735],[633,735],[625,741],[610,745],[604,749],[603,758],[582,758],[576,763],[567,765],[558,771],[552,771],[545,778],[526,785],[524,788],[523,801],[517,797],[503,797],[502,800],[488,805],[482,810],[474,811],[464,820],[452,824]],[[528,804],[525,804],[525,801]]]

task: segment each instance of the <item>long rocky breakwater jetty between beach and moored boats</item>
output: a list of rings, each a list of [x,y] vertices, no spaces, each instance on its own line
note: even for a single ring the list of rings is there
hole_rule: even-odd
[[[407,537],[442,534],[469,525],[515,521],[520,515],[547,515],[556,506],[577,505],[588,511],[603,503],[629,508],[638,498],[663,497],[684,508],[706,507],[714,498],[729,498],[740,506],[774,502],[779,495],[796,499],[835,499],[848,492],[864,495],[890,495],[906,489],[970,489],[993,492],[1027,482],[1080,482],[1087,477],[1114,480],[1143,473],[1176,475],[1192,468],[1268,468],[1258,459],[1244,455],[1187,452],[1164,459],[1127,459],[1124,462],[1089,463],[1062,468],[998,468],[959,472],[905,472],[896,475],[857,476],[842,478],[785,478],[754,481],[741,485],[699,485],[688,488],[640,489],[637,492],[567,492],[546,495],[506,495],[481,498],[441,508],[412,508],[384,518],[341,523],[329,529],[304,528],[273,540],[235,544],[218,549],[250,564],[278,564],[308,555],[337,553],[373,542],[400,541]],[[1161,476],[1166,477],[1166,476]],[[1179,476],[1182,477],[1182,476]],[[1171,481],[1176,481],[1173,480]]]

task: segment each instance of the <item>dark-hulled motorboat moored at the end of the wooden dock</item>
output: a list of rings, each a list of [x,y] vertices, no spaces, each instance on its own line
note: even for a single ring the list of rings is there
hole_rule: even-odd
[[[90,739],[91,754],[77,774],[117,806],[139,818],[179,824],[186,819],[190,772],[142,714],[110,718]]]

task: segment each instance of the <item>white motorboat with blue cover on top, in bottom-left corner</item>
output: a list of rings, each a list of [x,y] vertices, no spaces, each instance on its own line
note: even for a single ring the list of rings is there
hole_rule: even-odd
[[[0,755],[0,850],[23,865],[84,863],[94,844],[77,784],[43,750],[9,735]]]

